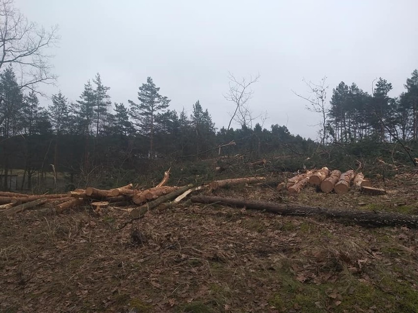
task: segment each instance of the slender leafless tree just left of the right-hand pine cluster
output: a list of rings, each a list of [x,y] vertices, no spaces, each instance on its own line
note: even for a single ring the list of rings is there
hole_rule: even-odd
[[[329,112],[326,104],[327,89],[329,86],[326,84],[326,80],[327,77],[324,76],[321,78],[318,84],[314,84],[312,81],[308,82],[304,78],[303,82],[308,86],[309,96],[301,96],[292,91],[296,96],[309,102],[309,104],[306,106],[309,111],[321,114],[322,120],[320,123],[321,129],[319,132],[321,136],[321,144],[325,143],[327,115]]]

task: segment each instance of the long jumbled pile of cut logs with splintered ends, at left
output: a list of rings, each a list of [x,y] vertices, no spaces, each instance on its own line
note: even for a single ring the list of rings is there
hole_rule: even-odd
[[[131,204],[137,205],[131,211],[133,217],[142,215],[147,210],[164,205],[173,205],[180,202],[190,193],[201,190],[226,187],[236,184],[252,184],[264,182],[264,177],[243,177],[213,181],[208,185],[194,187],[187,185],[183,187],[166,186],[170,171],[164,173],[164,178],[153,188],[137,190],[132,184],[110,190],[88,187],[76,189],[69,193],[28,195],[24,193],[0,192],[0,212],[11,215],[24,210],[33,209],[44,204],[50,204],[57,213],[70,208],[89,204],[93,209],[102,209],[107,206],[125,207]]]

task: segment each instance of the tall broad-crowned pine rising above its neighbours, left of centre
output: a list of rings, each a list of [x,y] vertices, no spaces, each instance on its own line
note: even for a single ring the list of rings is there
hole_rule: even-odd
[[[131,118],[140,133],[149,140],[149,158],[154,158],[154,135],[160,123],[157,115],[166,112],[171,101],[166,96],[158,94],[159,89],[153,79],[148,77],[147,83],[139,87],[139,103],[129,100]]]

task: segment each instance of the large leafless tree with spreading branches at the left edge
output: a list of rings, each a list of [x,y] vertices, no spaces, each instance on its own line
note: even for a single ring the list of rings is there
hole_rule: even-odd
[[[56,76],[51,73],[51,55],[48,48],[58,41],[57,26],[46,31],[14,7],[14,0],[0,0],[0,71],[12,66],[20,80],[21,89],[39,93],[39,83],[52,83]],[[0,97],[0,103],[2,102]],[[7,104],[6,104],[7,105]],[[0,124],[6,116],[0,117]]]

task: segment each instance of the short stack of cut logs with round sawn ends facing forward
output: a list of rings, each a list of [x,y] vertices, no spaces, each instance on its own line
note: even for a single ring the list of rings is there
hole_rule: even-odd
[[[308,170],[306,173],[293,176],[286,182],[280,183],[277,189],[286,189],[289,193],[300,193],[308,184],[319,186],[324,193],[332,191],[335,193],[348,193],[351,186],[360,189],[362,193],[366,194],[379,195],[386,193],[385,190],[371,187],[370,181],[365,179],[361,172],[356,173],[354,170],[349,169],[341,173],[338,169],[330,171],[328,168]]]

